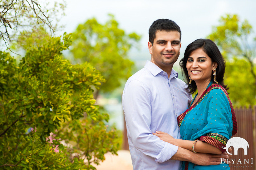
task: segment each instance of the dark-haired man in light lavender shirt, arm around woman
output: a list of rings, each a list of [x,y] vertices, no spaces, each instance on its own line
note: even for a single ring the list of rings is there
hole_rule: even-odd
[[[181,161],[199,165],[220,163],[217,155],[193,153],[152,135],[157,130],[180,139],[177,117],[188,108],[192,99],[185,90],[186,84],[172,69],[180,55],[180,40],[180,27],[174,21],[154,21],[149,29],[151,60],[126,82],[123,109],[130,154],[136,170],[178,170]],[[222,158],[227,158],[227,155],[222,155]]]

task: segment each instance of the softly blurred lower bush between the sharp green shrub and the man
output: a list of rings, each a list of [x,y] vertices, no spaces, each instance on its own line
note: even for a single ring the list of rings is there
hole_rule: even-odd
[[[63,139],[62,141],[73,145],[68,148],[68,152],[75,153],[74,157],[84,158],[87,169],[94,169],[94,164],[98,165],[105,160],[105,153],[117,154],[120,136],[116,129],[108,130],[108,125],[104,124],[107,120],[108,114],[99,114],[96,121],[87,118],[67,122],[58,131],[57,136]]]

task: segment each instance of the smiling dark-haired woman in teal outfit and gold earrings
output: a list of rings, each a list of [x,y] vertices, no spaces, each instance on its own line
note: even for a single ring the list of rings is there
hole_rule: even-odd
[[[178,116],[182,139],[158,132],[160,139],[193,152],[221,154],[227,141],[237,132],[237,123],[227,86],[224,85],[225,61],[212,40],[198,39],[187,46],[180,66],[187,90],[198,91],[190,107]],[[228,164],[199,166],[184,162],[183,169],[230,169]]]

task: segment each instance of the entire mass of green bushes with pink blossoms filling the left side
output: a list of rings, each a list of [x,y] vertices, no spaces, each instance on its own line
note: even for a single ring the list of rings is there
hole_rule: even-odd
[[[95,169],[104,153],[116,154],[116,130],[93,98],[104,79],[62,59],[70,45],[71,35],[49,38],[18,66],[0,52],[0,169]]]

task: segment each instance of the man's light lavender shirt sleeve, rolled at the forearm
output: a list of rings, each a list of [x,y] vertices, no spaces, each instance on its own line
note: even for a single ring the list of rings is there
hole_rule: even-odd
[[[127,131],[131,141],[140,152],[155,158],[157,163],[169,160],[178,146],[162,141],[152,135],[150,93],[138,80],[132,80],[123,92],[123,109]]]

